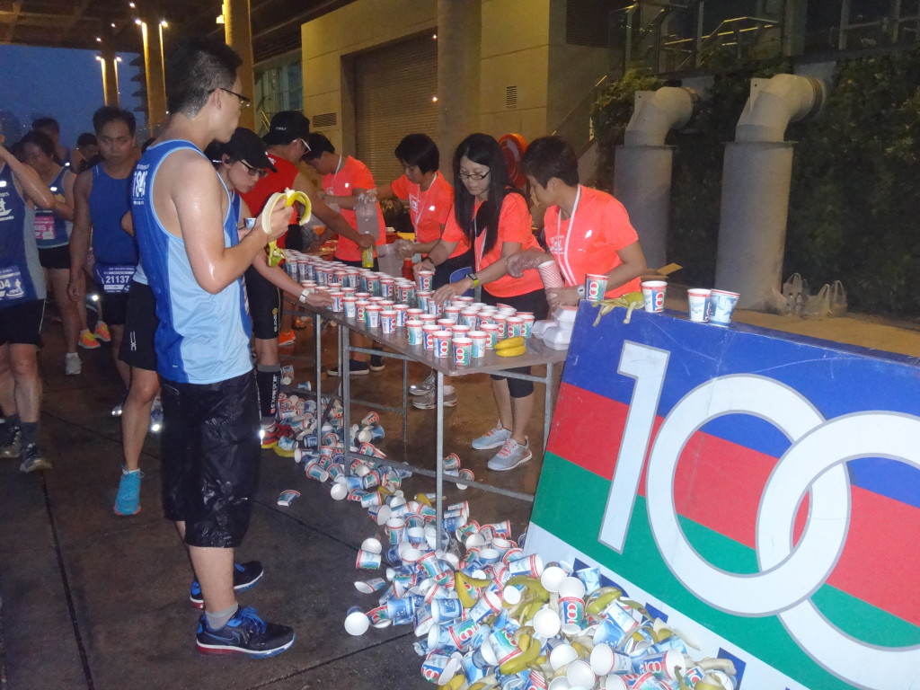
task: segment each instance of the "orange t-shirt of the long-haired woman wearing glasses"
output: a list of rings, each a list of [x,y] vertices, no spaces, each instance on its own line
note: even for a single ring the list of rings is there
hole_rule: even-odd
[[[473,213],[477,213],[481,205],[481,202],[477,201]],[[476,238],[473,257],[477,272],[501,259],[501,247],[505,242],[520,243],[522,249],[536,247],[536,239],[534,233],[531,232],[530,224],[530,211],[527,209],[527,202],[523,201],[523,196],[514,192],[506,194],[504,201],[501,202],[499,236],[495,245],[484,254],[486,233],[482,232]],[[445,242],[457,242],[464,247],[469,247],[466,233],[457,224],[454,213],[451,213],[447,219],[443,237]],[[485,284],[487,292],[496,297],[515,297],[519,294],[532,293],[542,287],[543,281],[540,280],[540,273],[536,269],[525,270],[521,278],[512,278],[505,273],[497,281]]]

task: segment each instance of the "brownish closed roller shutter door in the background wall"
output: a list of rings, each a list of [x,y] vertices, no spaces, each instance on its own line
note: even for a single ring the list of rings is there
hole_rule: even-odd
[[[393,150],[406,134],[438,139],[438,42],[433,31],[355,56],[357,158],[377,184],[403,173]],[[447,158],[442,152],[442,163]]]

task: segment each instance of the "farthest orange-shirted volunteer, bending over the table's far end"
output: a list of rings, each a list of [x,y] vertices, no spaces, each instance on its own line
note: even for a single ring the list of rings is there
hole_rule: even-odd
[[[374,189],[374,176],[370,169],[357,158],[351,155],[336,153],[336,147],[328,138],[319,132],[312,132],[307,138],[306,143],[309,150],[304,155],[306,164],[316,170],[323,176],[323,191],[326,194],[327,203],[339,205],[339,213],[348,221],[348,224],[358,232],[358,216],[351,209],[346,208],[342,201],[351,201],[355,196],[362,194],[366,190]],[[386,244],[386,224],[384,223],[384,214],[380,211],[380,205],[374,202],[377,212],[377,239],[376,245]],[[339,236],[339,242],[336,246],[336,259],[342,263],[354,268],[361,268],[362,248],[355,244],[348,237]],[[374,257],[374,270],[377,268],[377,259]],[[363,336],[352,334],[352,344],[359,348],[369,348],[371,340]],[[385,363],[384,358],[379,354],[372,354],[370,363],[365,361],[366,354],[356,353],[354,359],[349,362],[349,374],[352,376],[367,374],[368,372],[383,371]],[[328,369],[327,374],[330,376],[339,376],[338,365]]]

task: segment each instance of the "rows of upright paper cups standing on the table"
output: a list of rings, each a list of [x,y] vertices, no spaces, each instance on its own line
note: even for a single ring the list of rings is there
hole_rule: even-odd
[[[405,334],[409,345],[457,366],[485,357],[500,339],[529,339],[533,331],[534,315],[511,305],[486,305],[468,296],[437,304],[431,270],[421,270],[412,282],[299,252],[287,254],[289,274],[293,277],[296,270],[295,280],[305,288],[328,291],[333,312],[384,335]]]

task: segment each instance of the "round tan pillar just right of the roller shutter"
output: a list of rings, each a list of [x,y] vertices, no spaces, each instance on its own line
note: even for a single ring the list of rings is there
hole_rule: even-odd
[[[481,17],[480,0],[438,0],[438,148],[443,170],[450,167],[457,144],[479,130]]]

